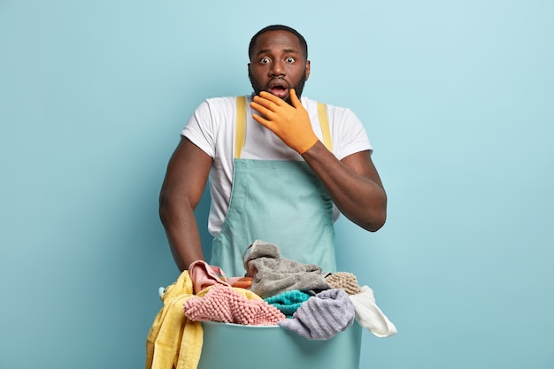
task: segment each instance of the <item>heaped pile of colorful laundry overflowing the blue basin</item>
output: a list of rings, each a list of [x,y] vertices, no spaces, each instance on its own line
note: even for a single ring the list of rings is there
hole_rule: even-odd
[[[165,288],[146,342],[147,368],[185,367],[185,361],[196,366],[201,321],[277,325],[310,340],[331,339],[354,320],[375,336],[396,334],[373,290],[360,286],[353,273],[323,273],[318,265],[281,258],[269,242],[258,240],[249,250],[244,276],[227,278],[218,266],[199,260]]]

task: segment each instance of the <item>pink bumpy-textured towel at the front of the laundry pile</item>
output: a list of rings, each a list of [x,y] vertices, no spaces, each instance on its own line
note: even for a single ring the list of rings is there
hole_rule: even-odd
[[[286,319],[279,309],[263,300],[248,300],[233,288],[214,284],[205,296],[189,298],[184,304],[190,320],[211,320],[250,326],[274,326]]]

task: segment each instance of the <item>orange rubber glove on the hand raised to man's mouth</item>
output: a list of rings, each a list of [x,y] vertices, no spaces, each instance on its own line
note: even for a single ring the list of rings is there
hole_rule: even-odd
[[[259,96],[254,96],[250,108],[258,111],[252,117],[262,126],[273,131],[291,149],[299,154],[318,142],[318,136],[313,133],[312,122],[308,111],[296,97],[294,88],[290,88],[290,102],[292,106],[281,98],[262,91]]]

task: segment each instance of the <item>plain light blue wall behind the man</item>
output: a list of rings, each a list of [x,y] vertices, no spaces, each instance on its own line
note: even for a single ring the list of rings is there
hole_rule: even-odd
[[[399,331],[365,332],[361,367],[554,367],[554,3],[338,3],[0,1],[0,368],[143,366],[178,275],[165,165],[197,104],[250,91],[271,23],[388,190],[381,231],[337,224]]]

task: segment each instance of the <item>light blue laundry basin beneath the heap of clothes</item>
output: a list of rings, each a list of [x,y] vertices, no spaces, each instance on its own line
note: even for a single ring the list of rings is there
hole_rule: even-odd
[[[330,340],[308,340],[278,326],[205,321],[198,369],[358,369],[362,328],[356,321]]]

